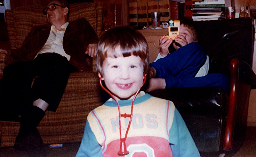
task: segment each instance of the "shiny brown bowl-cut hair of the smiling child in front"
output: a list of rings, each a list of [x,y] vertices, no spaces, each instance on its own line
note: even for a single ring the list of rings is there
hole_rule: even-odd
[[[116,47],[120,46],[121,54],[116,52]],[[109,53],[111,50],[111,53]],[[105,58],[117,58],[120,56],[139,56],[143,62],[144,73],[148,73],[149,69],[149,49],[147,40],[144,36],[129,26],[114,27],[105,32],[101,37],[97,46],[97,70],[100,75],[103,74],[103,62]]]

